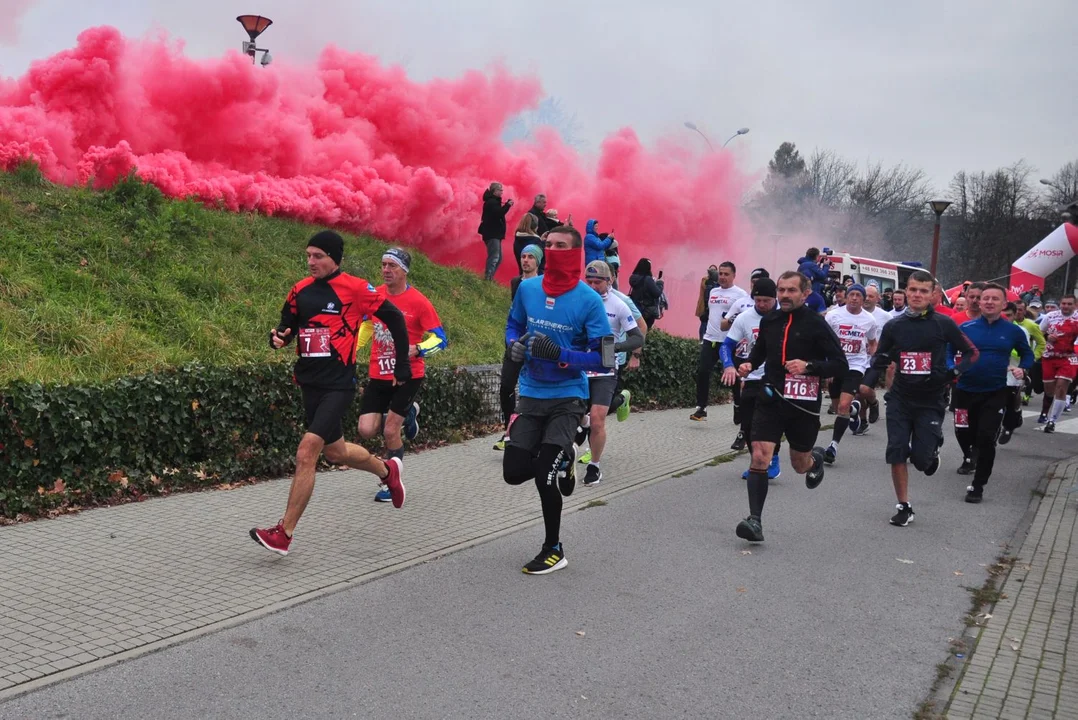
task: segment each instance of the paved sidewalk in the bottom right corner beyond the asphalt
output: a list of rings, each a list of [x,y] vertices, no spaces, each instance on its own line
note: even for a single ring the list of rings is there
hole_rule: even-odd
[[[1049,471],[946,717],[1078,720],[1078,458]],[[1072,552],[1074,554],[1072,554]]]

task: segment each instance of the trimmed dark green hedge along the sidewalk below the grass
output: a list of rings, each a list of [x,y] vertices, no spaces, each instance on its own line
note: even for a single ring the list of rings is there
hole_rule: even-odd
[[[634,405],[692,405],[696,348],[652,333],[626,378]],[[480,421],[484,391],[479,375],[428,369],[424,442],[489,431]],[[345,420],[348,438],[358,407]],[[14,383],[0,390],[0,516],[286,475],[302,432],[300,391],[281,363],[188,365],[96,385]]]

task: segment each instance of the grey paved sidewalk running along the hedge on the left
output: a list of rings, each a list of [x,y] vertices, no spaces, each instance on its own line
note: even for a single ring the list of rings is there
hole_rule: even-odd
[[[611,421],[603,483],[566,511],[730,452],[729,406],[688,413]],[[288,557],[247,532],[280,516],[290,480],[0,528],[0,700],[539,523],[494,440],[406,456],[401,510],[363,473],[320,473]]]

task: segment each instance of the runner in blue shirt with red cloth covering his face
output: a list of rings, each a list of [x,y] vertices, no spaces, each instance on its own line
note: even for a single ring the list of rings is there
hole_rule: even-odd
[[[535,481],[545,528],[542,550],[523,568],[529,574],[568,564],[558,537],[562,496],[571,495],[577,484],[572,439],[586,410],[584,371],[614,364],[612,357],[604,362],[602,351],[613,344],[603,300],[580,281],[580,232],[562,225],[545,239],[547,272],[521,282],[506,321],[506,344],[524,368],[502,475],[510,485]]]

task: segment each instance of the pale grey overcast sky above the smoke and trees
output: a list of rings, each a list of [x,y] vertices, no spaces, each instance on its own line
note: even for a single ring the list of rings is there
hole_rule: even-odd
[[[534,73],[585,150],[626,125],[703,144],[692,120],[716,146],[750,127],[730,144],[748,171],[791,140],[921,167],[941,191],[959,169],[1024,158],[1046,177],[1078,160],[1074,0],[0,0],[0,74],[93,25],[220,55],[246,38],[241,13],[273,18],[260,44],[277,58],[333,42],[420,80],[497,61]]]

